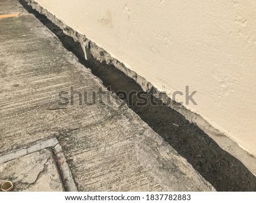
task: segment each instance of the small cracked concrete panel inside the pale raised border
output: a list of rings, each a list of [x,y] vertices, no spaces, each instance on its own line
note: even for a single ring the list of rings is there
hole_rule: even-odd
[[[12,181],[14,191],[64,191],[48,149],[0,164],[0,174],[1,179]]]

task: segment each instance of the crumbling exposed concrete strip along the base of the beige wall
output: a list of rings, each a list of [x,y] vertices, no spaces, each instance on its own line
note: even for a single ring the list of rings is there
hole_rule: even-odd
[[[76,42],[79,42],[84,50],[86,60],[88,60],[90,56],[93,56],[100,62],[106,62],[106,64],[114,65],[128,77],[133,78],[144,91],[151,93],[154,92],[154,96],[156,96],[156,98],[161,99],[163,103],[168,103],[172,109],[175,109],[175,111],[181,113],[181,115],[183,115],[189,122],[193,122],[199,126],[199,128],[208,134],[208,136],[211,137],[222,149],[240,160],[256,176],[256,157],[242,149],[242,147],[239,146],[237,142],[233,141],[232,138],[230,138],[227,134],[225,134],[225,132],[221,132],[220,130],[214,128],[201,115],[196,112],[192,112],[184,107],[184,105],[180,105],[174,101],[170,102],[166,92],[158,91],[150,82],[141,77],[141,75],[138,75],[135,73],[135,71],[130,70],[122,62],[112,57],[111,54],[106,52],[106,50],[89,40],[85,35],[82,35],[62,22],[60,19],[57,19],[55,15],[51,14],[51,12],[49,12],[47,9],[44,9],[35,0],[24,1],[26,1],[28,5],[31,5],[32,8],[38,11],[40,14],[45,15],[56,26],[60,27],[65,35],[71,36]]]

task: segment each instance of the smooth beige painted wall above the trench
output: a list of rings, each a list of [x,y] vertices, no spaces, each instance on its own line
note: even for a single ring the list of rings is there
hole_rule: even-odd
[[[256,1],[36,1],[256,155]]]

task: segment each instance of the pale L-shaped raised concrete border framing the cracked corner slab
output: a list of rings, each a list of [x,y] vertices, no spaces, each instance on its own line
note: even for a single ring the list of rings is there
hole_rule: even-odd
[[[50,148],[53,152],[53,157],[56,161],[57,168],[59,169],[59,175],[61,177],[61,180],[63,181],[63,187],[65,188],[65,191],[77,192],[72,172],[68,166],[62,147],[57,138],[55,137],[49,138],[45,141],[35,142],[33,145],[30,145],[28,147],[23,147],[22,149],[11,151],[8,154],[2,155],[0,157],[0,164],[9,162],[13,159],[18,159],[20,157],[23,157],[24,155],[28,155],[46,148]]]

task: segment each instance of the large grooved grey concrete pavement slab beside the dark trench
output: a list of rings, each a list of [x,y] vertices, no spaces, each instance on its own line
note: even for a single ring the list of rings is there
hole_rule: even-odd
[[[79,191],[214,191],[121,100],[59,106],[60,91],[90,93],[101,81],[18,1],[0,12],[14,5],[20,15],[0,19],[0,155],[55,136]]]

